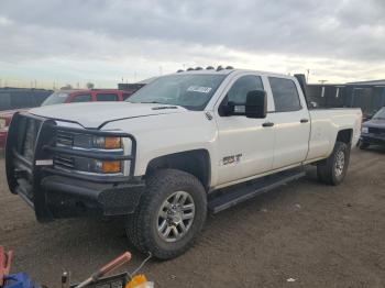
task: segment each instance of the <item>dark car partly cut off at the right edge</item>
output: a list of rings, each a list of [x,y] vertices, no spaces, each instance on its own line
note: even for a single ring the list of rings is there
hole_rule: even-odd
[[[385,145],[385,107],[362,124],[360,148]]]

